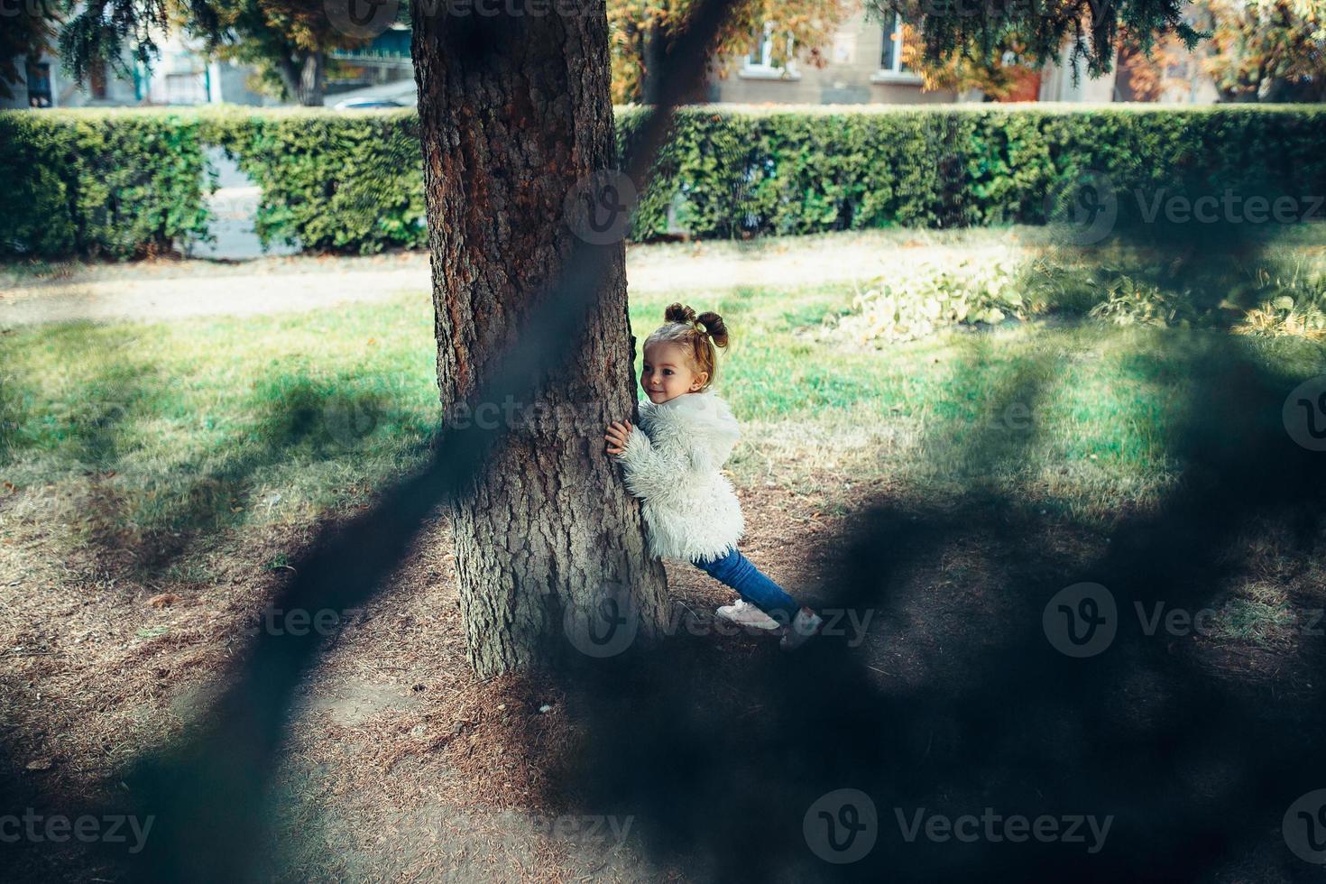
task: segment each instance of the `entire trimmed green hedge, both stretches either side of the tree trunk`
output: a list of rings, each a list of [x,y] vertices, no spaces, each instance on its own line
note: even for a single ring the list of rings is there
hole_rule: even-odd
[[[618,109],[629,144],[642,121]],[[1189,200],[1326,193],[1326,110],[991,105],[679,113],[633,239],[1044,223],[1087,172]],[[263,187],[257,232],[314,252],[426,243],[414,111],[0,113],[0,254],[127,257],[206,232],[206,144]],[[1099,180],[1099,179],[1098,179]]]

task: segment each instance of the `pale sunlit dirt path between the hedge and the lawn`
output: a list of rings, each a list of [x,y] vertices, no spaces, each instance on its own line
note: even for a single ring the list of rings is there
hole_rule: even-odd
[[[794,286],[878,276],[886,268],[896,270],[899,261],[944,260],[957,252],[926,232],[906,239],[835,235],[822,237],[815,248],[777,240],[634,245],[627,250],[627,276],[633,292]],[[961,257],[972,254],[972,248],[961,249]],[[0,270],[0,327],[314,310],[427,292],[428,286],[426,252],[68,265],[40,276]]]

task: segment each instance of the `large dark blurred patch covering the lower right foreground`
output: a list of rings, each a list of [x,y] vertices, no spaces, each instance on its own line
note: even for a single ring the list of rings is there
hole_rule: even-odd
[[[770,643],[744,656],[688,636],[573,661],[583,745],[561,781],[572,806],[634,815],[652,856],[699,880],[1306,877],[1280,822],[1326,783],[1313,745],[1322,691],[1310,687],[1326,663],[1319,636],[1297,636],[1285,660],[1297,689],[1276,698],[1219,677],[1191,636],[1148,635],[1135,603],[1148,615],[1156,603],[1219,608],[1254,518],[1292,525],[1298,555],[1319,551],[1326,470],[1281,423],[1293,379],[1225,338],[1187,370],[1191,407],[1172,439],[1183,480],[1103,549],[1055,549],[1046,525],[984,490],[943,512],[882,504],[854,518],[818,599],[879,611],[861,647],[821,637],[796,656]],[[1022,378],[998,398],[1037,395]],[[968,445],[975,463],[1016,444],[988,441]],[[985,578],[930,592],[934,563],[961,547],[985,559]],[[1106,587],[1116,635],[1075,659],[1044,616],[1079,582]],[[830,839],[850,842],[870,811],[841,789],[869,795],[878,820],[873,850],[846,864]],[[987,828],[992,814],[1049,815],[1061,836]],[[981,822],[961,839],[941,823],[927,835],[934,815]],[[1110,828],[1083,820],[1070,840],[1078,815]]]

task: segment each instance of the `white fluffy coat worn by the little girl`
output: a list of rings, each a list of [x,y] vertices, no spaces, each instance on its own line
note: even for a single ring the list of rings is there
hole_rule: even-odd
[[[741,436],[732,410],[709,390],[639,410],[619,459],[626,488],[643,500],[650,551],[712,559],[736,546],[741,505],[719,472]]]

